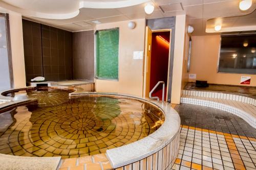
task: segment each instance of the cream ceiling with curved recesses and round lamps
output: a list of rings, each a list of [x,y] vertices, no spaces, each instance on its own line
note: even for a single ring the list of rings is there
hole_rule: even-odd
[[[155,5],[155,11],[151,15],[146,15],[144,12],[144,6],[148,2]],[[239,29],[244,29],[242,27],[255,28],[256,0],[247,11],[239,9],[239,2],[239,0],[0,0],[0,7],[20,12],[27,19],[72,32],[93,30],[95,20],[107,23],[186,14],[189,25],[194,27],[193,35],[207,35],[216,34],[214,26],[220,20],[222,30],[225,32],[230,32],[232,29],[240,31]]]

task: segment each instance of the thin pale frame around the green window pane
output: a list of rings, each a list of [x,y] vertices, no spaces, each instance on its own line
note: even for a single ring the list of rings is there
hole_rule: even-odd
[[[117,72],[117,79],[106,79],[106,78],[100,78],[97,76],[97,33],[99,31],[109,31],[109,30],[118,30],[119,35],[118,35],[118,72]],[[120,62],[120,28],[119,27],[115,27],[115,28],[110,28],[110,29],[100,29],[100,30],[96,30],[94,32],[94,78],[97,80],[108,80],[108,81],[119,81],[119,77],[120,77],[120,67],[119,67],[119,62]]]

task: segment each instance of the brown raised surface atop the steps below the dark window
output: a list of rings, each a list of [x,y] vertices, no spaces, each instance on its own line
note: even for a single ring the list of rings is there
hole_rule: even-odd
[[[195,83],[187,83],[184,90],[200,90],[200,91],[214,91],[223,93],[233,93],[241,95],[250,95],[252,98],[256,98],[256,88],[248,86],[231,86],[231,85],[214,85],[209,84],[209,87],[196,87]]]

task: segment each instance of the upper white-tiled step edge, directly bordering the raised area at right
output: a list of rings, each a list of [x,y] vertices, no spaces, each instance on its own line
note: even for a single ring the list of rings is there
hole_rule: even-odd
[[[199,91],[199,90],[183,90],[183,95],[198,96],[204,98],[226,99],[256,106],[256,99],[250,96],[239,94],[230,94],[223,92]]]

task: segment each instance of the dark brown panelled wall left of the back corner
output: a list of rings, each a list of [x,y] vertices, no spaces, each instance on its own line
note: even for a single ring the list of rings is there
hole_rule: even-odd
[[[27,82],[36,76],[47,81],[73,78],[71,32],[23,19],[23,34]]]

